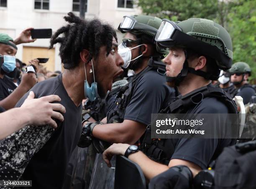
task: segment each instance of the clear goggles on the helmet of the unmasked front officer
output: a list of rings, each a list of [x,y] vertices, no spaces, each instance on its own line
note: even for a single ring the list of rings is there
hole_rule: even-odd
[[[172,41],[172,36],[176,30],[182,32],[182,29],[173,21],[164,19],[156,33],[155,41]]]

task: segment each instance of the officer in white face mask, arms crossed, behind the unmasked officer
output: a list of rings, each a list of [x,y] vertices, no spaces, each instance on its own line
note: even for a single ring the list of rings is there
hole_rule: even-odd
[[[123,67],[132,69],[135,76],[112,98],[115,106],[108,111],[108,124],[85,122],[82,138],[92,136],[96,148],[95,138],[110,143],[135,144],[150,124],[151,113],[159,112],[170,96],[174,97],[174,89],[166,85],[164,63],[160,62],[166,51],[153,43],[161,21],[139,15],[125,16],[120,23],[118,30],[125,36],[118,53],[125,62]],[[82,138],[78,146],[84,147],[86,139]],[[104,151],[101,146],[98,148]]]

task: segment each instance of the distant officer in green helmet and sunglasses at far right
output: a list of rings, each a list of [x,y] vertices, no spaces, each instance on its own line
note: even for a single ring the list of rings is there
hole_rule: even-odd
[[[251,68],[245,62],[237,62],[232,65],[229,72],[231,82],[238,89],[236,96],[243,98],[243,103],[249,103],[251,96],[255,94],[255,89],[248,83],[248,78],[251,76]]]

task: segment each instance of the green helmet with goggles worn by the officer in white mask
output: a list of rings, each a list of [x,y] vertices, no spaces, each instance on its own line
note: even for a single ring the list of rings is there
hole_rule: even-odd
[[[123,22],[120,23],[118,30],[120,32],[131,32],[141,38],[142,43],[154,44],[154,36],[157,33],[162,20],[157,17],[148,15],[133,15],[124,16]],[[165,48],[156,48],[157,52],[161,54],[168,53]]]

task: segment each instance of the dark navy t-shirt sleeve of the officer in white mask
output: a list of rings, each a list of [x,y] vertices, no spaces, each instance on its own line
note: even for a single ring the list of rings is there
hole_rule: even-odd
[[[165,108],[171,98],[175,98],[175,91],[166,85],[166,77],[150,70],[136,81],[124,119],[148,125],[151,123],[151,113]]]

